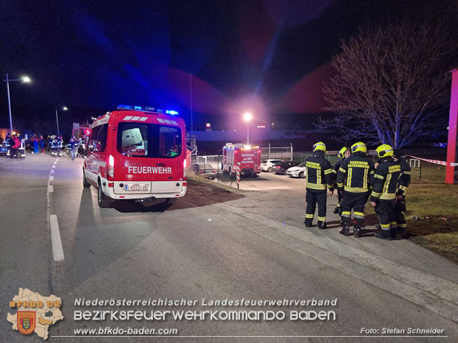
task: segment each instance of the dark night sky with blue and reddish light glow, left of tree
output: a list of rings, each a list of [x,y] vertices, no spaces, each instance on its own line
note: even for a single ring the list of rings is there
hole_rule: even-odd
[[[358,25],[417,17],[448,1],[1,1],[0,74],[14,123],[83,122],[118,104],[176,109],[190,129],[311,127],[340,40]],[[433,7],[431,7],[433,5]],[[190,87],[190,82],[192,87]],[[54,122],[53,122],[54,124]],[[9,126],[6,82],[0,126]]]

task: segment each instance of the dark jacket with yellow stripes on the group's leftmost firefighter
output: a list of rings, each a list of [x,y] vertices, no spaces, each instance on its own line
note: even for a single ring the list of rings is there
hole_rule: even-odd
[[[322,151],[315,151],[312,156],[305,159],[307,169],[307,188],[313,190],[334,190],[333,170],[327,159],[324,159]]]

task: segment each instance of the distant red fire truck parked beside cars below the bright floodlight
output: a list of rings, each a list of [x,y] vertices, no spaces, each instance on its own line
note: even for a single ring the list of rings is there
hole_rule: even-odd
[[[222,147],[222,171],[236,174],[240,162],[240,175],[257,177],[261,173],[261,151],[259,146],[227,143]]]

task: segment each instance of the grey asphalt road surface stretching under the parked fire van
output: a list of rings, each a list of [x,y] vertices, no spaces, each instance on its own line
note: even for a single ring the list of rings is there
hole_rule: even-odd
[[[328,201],[329,229],[305,230],[303,179],[263,173],[242,181],[247,190],[242,199],[209,206],[173,206],[163,212],[121,203],[101,209],[96,190],[82,186],[82,159],[72,162],[61,157],[54,162],[50,155],[28,155],[21,161],[0,158],[1,342],[41,342],[37,335],[25,337],[13,331],[6,321],[9,301],[19,287],[62,299],[65,319],[48,329],[50,342],[456,342],[458,338],[458,266],[410,241],[338,234],[338,217],[330,214],[335,197]],[[52,248],[49,216],[54,214],[61,261],[55,261]],[[196,305],[75,303],[83,298],[185,299],[196,300]],[[202,305],[202,299],[207,303],[226,298],[337,299],[337,305]],[[74,319],[75,311],[99,310],[275,311],[279,316],[283,311],[286,318]],[[290,320],[291,311],[334,311],[336,317]],[[82,337],[74,331],[105,327],[168,328],[178,329],[178,334],[115,339],[104,333]],[[388,334],[383,328],[405,332]],[[408,328],[444,331],[439,333],[442,337],[403,337]]]

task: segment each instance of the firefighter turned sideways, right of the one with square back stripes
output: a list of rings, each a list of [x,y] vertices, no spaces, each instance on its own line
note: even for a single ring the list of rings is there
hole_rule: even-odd
[[[380,161],[373,179],[371,205],[375,208],[382,229],[382,234],[375,234],[375,237],[392,241],[397,235],[395,202],[401,166],[393,159],[393,148],[388,144],[382,144],[375,150]]]

